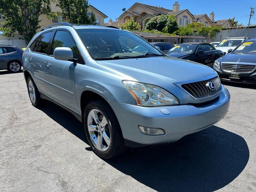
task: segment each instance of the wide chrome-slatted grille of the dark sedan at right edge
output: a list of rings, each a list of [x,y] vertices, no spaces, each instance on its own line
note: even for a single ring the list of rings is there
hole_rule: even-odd
[[[250,73],[255,69],[255,64],[222,63],[223,71],[234,73]]]

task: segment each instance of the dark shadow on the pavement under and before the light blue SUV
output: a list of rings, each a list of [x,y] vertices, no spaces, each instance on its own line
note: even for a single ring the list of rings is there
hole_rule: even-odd
[[[88,144],[82,123],[72,114],[51,102],[41,110]],[[159,192],[210,192],[232,182],[248,159],[244,138],[211,126],[173,144],[134,148],[104,161]]]

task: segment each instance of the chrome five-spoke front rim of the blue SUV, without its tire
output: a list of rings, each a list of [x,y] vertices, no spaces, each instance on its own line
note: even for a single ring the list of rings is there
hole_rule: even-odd
[[[92,109],[87,118],[87,128],[92,144],[100,151],[106,151],[111,142],[111,135],[106,117],[97,109]]]

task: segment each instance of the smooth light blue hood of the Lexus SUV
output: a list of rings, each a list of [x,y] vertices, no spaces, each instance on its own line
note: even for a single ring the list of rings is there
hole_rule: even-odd
[[[97,60],[97,62],[131,76],[140,82],[157,85],[198,80],[216,74],[212,68],[205,65],[167,56]]]

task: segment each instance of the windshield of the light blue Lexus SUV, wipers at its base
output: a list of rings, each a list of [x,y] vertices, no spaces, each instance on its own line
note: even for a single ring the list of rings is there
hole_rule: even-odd
[[[95,60],[166,56],[131,32],[108,29],[78,29],[77,32]]]

